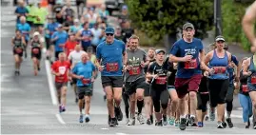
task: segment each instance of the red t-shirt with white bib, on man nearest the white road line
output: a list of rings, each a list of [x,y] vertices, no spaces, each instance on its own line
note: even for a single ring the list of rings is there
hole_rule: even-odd
[[[60,76],[55,76],[55,82],[58,83],[68,83],[69,82],[69,74],[68,70],[70,68],[69,61],[56,61],[52,64],[51,69],[54,70],[56,73],[61,73]]]

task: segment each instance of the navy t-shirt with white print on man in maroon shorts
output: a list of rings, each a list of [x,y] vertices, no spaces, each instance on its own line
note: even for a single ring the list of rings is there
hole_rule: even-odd
[[[199,62],[199,52],[204,49],[203,43],[200,39],[193,38],[191,43],[187,43],[184,39],[180,39],[176,41],[173,47],[170,49],[170,54],[176,57],[184,57],[188,53],[193,56],[192,59],[196,59],[197,68],[185,68],[184,62],[178,63],[178,70],[176,78],[190,78],[194,74],[202,74],[202,70],[200,69],[200,62]]]

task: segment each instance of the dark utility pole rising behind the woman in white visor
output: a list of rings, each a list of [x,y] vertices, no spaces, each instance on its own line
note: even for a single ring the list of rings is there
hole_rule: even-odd
[[[222,35],[222,0],[214,0],[215,36]]]

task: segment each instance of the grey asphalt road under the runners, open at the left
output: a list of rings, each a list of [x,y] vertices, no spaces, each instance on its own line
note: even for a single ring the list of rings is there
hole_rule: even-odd
[[[74,102],[74,93],[70,87],[67,94],[67,111],[59,114],[55,89],[51,87],[53,84],[52,76],[49,74],[49,63],[44,58],[38,76],[33,76],[30,57],[24,60],[21,75],[14,76],[10,47],[10,38],[13,36],[15,25],[13,10],[12,7],[1,9],[2,134],[255,134],[255,130],[245,129],[241,110],[233,111],[232,120],[235,127],[226,129],[216,129],[216,122],[206,122],[203,128],[187,127],[187,130],[180,131],[179,128],[171,125],[128,126],[125,125],[125,120],[117,127],[108,127],[108,110],[103,100],[104,92],[99,78],[95,82],[89,124],[78,123],[78,106]]]

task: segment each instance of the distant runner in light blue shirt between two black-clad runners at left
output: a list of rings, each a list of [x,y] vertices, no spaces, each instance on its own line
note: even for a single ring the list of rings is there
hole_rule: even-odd
[[[30,25],[28,23],[26,23],[26,18],[24,16],[20,17],[20,24],[17,24],[17,29],[21,31],[22,35],[25,38],[25,58],[27,58],[27,44],[30,41]]]

